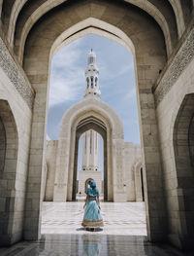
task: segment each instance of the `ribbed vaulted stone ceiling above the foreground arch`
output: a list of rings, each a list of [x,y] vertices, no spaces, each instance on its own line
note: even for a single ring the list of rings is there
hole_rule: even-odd
[[[43,34],[45,30],[49,31],[49,27],[51,28],[52,23],[55,22],[55,40],[62,30],[65,31],[72,24],[89,18],[90,15],[85,15],[86,11],[82,9],[86,5],[89,6],[88,12],[91,17],[109,23],[110,15],[112,16],[110,22],[120,29],[125,27],[127,30],[126,27],[128,27],[130,30],[130,27],[133,27],[129,33],[132,38],[136,32],[143,34],[139,26],[143,28],[145,21],[147,37],[149,29],[151,30],[151,26],[155,23],[155,26],[158,26],[162,32],[168,57],[172,54],[193,16],[194,0],[0,0],[2,31],[8,44],[18,56],[18,60],[22,63],[26,43],[31,34],[36,37],[38,32]],[[122,6],[122,8],[116,8],[116,6]],[[109,9],[112,9],[110,14]],[[125,24],[126,19],[128,20],[127,24]],[[66,25],[67,23],[69,25]],[[35,30],[38,31],[37,34],[34,32]],[[31,36],[30,44],[36,40]],[[138,41],[140,38],[136,37],[136,40]],[[162,38],[160,40],[162,41]]]

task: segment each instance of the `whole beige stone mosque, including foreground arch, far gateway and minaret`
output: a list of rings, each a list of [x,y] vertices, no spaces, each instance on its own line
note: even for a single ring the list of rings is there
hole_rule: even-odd
[[[71,253],[81,248],[80,234],[75,242],[72,236],[61,242],[42,237],[43,201],[53,205],[50,212],[60,202],[82,203],[81,182],[102,172],[95,132],[104,141],[103,203],[145,199],[146,240],[106,235],[107,255],[119,255],[119,248],[135,255],[175,254],[147,241],[194,247],[193,14],[194,0],[0,0],[0,254],[55,249],[56,255],[60,248],[80,255]],[[94,52],[84,97],[64,113],[58,140],[47,139],[51,59],[88,34],[111,39],[134,57],[140,146],[124,141],[120,117],[100,98]],[[86,151],[78,171],[81,135]],[[27,240],[33,242],[27,246]]]

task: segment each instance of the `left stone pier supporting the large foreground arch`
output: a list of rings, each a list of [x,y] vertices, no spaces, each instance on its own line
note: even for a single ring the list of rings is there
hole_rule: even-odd
[[[27,181],[24,239],[40,238],[41,210],[43,201],[42,183],[46,152],[48,83],[39,83],[41,76],[33,77],[32,86],[36,91],[33,108],[29,171]],[[44,80],[44,79],[42,79]],[[36,83],[37,82],[37,83]]]

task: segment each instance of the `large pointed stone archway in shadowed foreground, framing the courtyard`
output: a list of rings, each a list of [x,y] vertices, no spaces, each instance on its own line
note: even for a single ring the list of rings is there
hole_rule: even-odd
[[[182,99],[193,92],[193,7],[194,1],[176,0],[0,0],[0,72],[5,82],[1,95],[8,96],[15,105],[12,109],[25,123],[19,124],[18,133],[24,134],[19,165],[25,177],[22,184],[28,175],[27,203],[24,228],[21,217],[20,237],[14,240],[21,234],[25,239],[40,236],[50,58],[60,46],[92,32],[132,49],[148,238],[154,241],[168,237],[182,246],[179,237],[185,237],[184,227],[179,225],[181,214],[175,214],[181,211],[173,134]]]

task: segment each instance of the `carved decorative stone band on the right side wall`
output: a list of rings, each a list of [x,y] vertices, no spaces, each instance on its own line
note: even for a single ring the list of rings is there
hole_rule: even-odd
[[[154,91],[156,106],[163,100],[178,80],[178,77],[194,57],[194,29],[178,50],[178,54],[170,64],[162,80]]]

